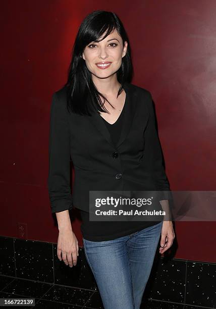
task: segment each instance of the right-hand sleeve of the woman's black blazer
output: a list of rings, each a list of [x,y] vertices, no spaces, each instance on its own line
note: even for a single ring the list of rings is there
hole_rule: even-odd
[[[148,92],[148,94],[149,119],[144,133],[144,153],[148,164],[147,169],[150,169],[150,173],[152,173],[156,185],[156,191],[170,191],[170,185],[163,165],[161,147],[156,131],[152,96],[150,92]],[[160,192],[158,194],[159,200],[169,199],[171,197],[170,193],[171,192]]]

